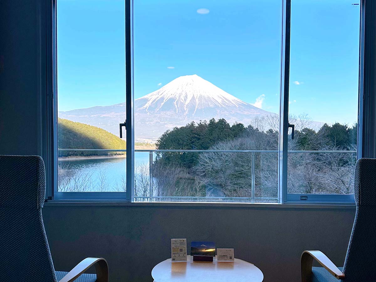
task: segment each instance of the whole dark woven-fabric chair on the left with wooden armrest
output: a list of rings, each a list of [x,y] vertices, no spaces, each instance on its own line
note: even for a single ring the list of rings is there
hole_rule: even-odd
[[[0,156],[0,281],[108,282],[103,258],[86,258],[69,273],[55,271],[42,220],[44,197],[41,157]],[[92,265],[97,274],[82,274]]]

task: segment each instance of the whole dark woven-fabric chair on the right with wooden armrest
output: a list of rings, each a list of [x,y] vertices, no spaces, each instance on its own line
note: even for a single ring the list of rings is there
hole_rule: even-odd
[[[304,251],[302,282],[376,281],[376,159],[359,159],[355,166],[356,213],[343,267],[320,251]],[[312,267],[315,259],[323,267]]]

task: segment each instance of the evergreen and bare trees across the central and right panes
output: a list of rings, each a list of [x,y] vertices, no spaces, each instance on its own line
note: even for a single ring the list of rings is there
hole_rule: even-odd
[[[295,119],[295,138],[288,136],[288,192],[353,193],[356,124],[324,124],[315,131],[306,123],[306,119]],[[230,126],[226,120],[212,119],[165,132],[156,143],[157,149],[219,152],[157,153],[153,176],[158,196],[250,197],[253,178],[256,197],[276,198],[278,124],[262,118],[247,127],[241,123]],[[270,129],[263,130],[265,127]],[[256,151],[220,152],[223,150]],[[307,150],[314,152],[300,153]]]

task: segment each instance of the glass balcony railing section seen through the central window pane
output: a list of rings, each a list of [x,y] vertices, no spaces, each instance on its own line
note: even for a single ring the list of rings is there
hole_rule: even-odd
[[[258,150],[136,152],[135,201],[276,202],[277,155]],[[183,159],[193,158],[197,164],[187,168]]]

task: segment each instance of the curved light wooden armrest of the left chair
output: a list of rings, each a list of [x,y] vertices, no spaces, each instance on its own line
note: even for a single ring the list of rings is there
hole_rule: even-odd
[[[108,265],[104,258],[85,258],[67,273],[59,282],[72,282],[89,267],[95,265],[97,282],[108,282]]]

